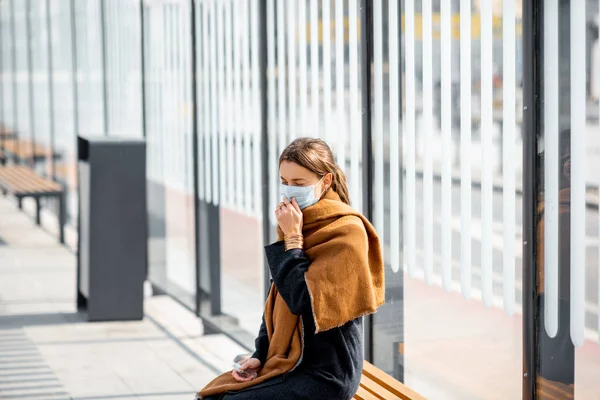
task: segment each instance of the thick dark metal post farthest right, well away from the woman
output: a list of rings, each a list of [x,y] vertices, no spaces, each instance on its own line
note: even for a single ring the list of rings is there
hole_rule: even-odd
[[[542,127],[543,3],[523,2],[523,399],[536,398],[538,316],[538,138]]]

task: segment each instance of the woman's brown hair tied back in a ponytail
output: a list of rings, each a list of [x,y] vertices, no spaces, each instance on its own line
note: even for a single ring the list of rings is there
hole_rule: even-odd
[[[279,157],[279,165],[290,161],[306,168],[320,178],[327,174],[333,175],[331,188],[340,199],[350,205],[348,183],[344,171],[337,165],[333,152],[327,143],[321,139],[298,138],[283,150]]]

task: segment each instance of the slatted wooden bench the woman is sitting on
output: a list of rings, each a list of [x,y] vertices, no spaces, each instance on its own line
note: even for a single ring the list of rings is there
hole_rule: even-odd
[[[398,382],[373,364],[365,361],[356,400],[425,400],[403,383]]]

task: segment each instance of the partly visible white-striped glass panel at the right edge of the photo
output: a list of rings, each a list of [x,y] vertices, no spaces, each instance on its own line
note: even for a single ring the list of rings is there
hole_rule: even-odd
[[[543,398],[600,393],[598,17],[597,1],[544,3],[537,232]]]

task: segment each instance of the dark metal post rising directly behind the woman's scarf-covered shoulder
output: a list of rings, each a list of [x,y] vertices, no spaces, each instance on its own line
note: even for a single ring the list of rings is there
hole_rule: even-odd
[[[373,144],[371,127],[371,64],[373,62],[373,4],[360,0],[362,88],[363,214],[373,219]],[[373,360],[373,317],[365,319],[365,359]]]

